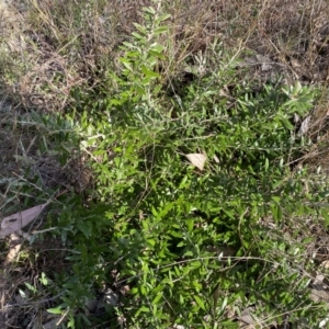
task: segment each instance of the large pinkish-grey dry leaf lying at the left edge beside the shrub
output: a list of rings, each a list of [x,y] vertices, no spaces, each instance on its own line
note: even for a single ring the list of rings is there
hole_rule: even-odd
[[[1,222],[0,239],[20,230],[21,228],[30,224],[36,216],[41,214],[46,205],[47,203],[44,203],[26,211],[4,217]]]

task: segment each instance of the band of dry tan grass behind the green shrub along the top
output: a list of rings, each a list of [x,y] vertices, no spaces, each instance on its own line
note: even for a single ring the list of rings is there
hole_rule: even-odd
[[[70,92],[104,82],[116,69],[118,46],[140,22],[150,1],[21,1],[2,21],[2,90],[27,106],[63,111]],[[20,3],[21,3],[20,2]],[[214,38],[228,48],[251,49],[273,63],[288,81],[322,83],[328,68],[328,5],[324,1],[166,1],[170,20],[171,73]],[[164,5],[166,5],[164,3]],[[18,4],[16,4],[18,7]],[[23,9],[22,9],[23,8]],[[13,15],[12,12],[16,14]],[[19,13],[18,13],[19,12]],[[15,19],[13,19],[15,18]],[[293,18],[293,19],[292,19]],[[259,66],[259,65],[258,65]],[[261,76],[261,77],[259,77]],[[265,77],[265,79],[266,79]]]

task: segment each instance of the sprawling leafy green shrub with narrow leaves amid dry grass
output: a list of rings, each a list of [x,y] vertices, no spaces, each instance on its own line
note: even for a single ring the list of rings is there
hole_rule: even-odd
[[[50,44],[83,48],[84,16],[60,21],[65,34],[60,15],[33,5],[57,36]],[[179,53],[167,12],[161,1],[144,8],[115,65],[102,53],[97,80],[71,86],[61,111],[5,114],[1,128],[30,141],[3,158],[20,167],[2,208],[50,203],[22,243],[39,276],[18,287],[21,305],[39,302],[41,321],[47,310],[63,328],[324,327],[327,306],[310,290],[320,261],[305,231],[326,230],[328,183],[294,166],[315,145],[296,116],[324,92],[257,83],[243,43],[213,38],[195,53],[185,37]],[[43,266],[43,254],[57,264]]]

